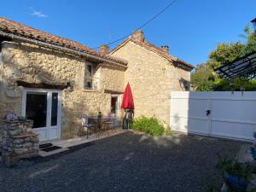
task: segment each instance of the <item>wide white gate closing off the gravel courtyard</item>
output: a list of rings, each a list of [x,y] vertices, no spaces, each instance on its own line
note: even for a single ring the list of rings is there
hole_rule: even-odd
[[[171,92],[173,131],[253,140],[256,92]]]

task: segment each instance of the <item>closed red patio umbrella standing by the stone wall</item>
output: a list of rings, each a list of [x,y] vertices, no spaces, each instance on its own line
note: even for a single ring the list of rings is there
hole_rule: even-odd
[[[128,83],[125,87],[125,92],[123,95],[123,102],[122,102],[122,108],[129,109],[128,111],[125,110],[125,117],[123,119],[123,128],[128,129],[129,125],[131,123],[131,119],[133,117],[133,109],[134,109],[134,102],[133,102],[133,96],[131,93],[131,87]]]

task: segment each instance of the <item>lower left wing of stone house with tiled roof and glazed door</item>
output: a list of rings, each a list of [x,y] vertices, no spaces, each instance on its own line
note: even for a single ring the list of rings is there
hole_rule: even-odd
[[[41,141],[79,134],[82,114],[120,119],[126,61],[0,18],[0,118],[34,120]]]

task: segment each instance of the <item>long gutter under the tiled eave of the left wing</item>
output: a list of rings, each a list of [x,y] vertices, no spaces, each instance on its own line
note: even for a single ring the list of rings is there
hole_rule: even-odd
[[[43,47],[46,47],[46,48],[49,48],[49,49],[67,51],[67,52],[73,53],[74,55],[84,56],[84,57],[86,57],[86,58],[88,58],[89,60],[92,60],[92,61],[108,62],[110,64],[113,64],[113,65],[116,65],[116,66],[119,66],[119,67],[127,68],[125,61],[124,61],[124,64],[121,64],[117,61],[113,61],[111,59],[109,59],[109,60],[104,59],[104,58],[101,58],[99,56],[91,55],[89,53],[82,52],[82,51],[79,51],[79,50],[74,50],[74,49],[70,49],[70,48],[66,48],[66,47],[61,47],[61,46],[55,45],[55,44],[48,44],[48,43],[44,43],[42,41],[34,40],[34,39],[31,39],[31,38],[24,38],[24,37],[20,37],[18,35],[14,35],[14,34],[9,34],[9,33],[6,33],[6,32],[1,32],[0,31],[0,36],[7,37],[7,38],[12,38],[12,39],[15,39],[15,40],[18,40],[18,41],[21,41],[21,42],[40,45],[40,46],[43,46]]]

